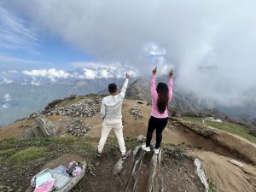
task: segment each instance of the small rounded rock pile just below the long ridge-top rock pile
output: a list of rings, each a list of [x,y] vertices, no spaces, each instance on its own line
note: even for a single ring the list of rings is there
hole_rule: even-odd
[[[71,125],[68,125],[67,128],[67,132],[71,133],[74,137],[84,137],[90,131],[90,127],[84,125],[83,119],[72,119]]]

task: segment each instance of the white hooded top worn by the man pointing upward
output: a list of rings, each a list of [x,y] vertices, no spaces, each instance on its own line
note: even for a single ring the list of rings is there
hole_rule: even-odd
[[[116,96],[105,96],[102,99],[101,117],[104,120],[120,120],[122,119],[122,104],[125,98],[129,79],[125,79],[120,93]]]

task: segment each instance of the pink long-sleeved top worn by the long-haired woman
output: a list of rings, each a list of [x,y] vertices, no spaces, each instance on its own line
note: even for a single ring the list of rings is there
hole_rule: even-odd
[[[150,84],[150,90],[151,90],[151,96],[152,96],[151,115],[155,118],[166,118],[166,117],[168,117],[167,108],[164,113],[160,113],[157,108],[158,94],[157,94],[156,87],[155,87],[155,79],[156,79],[156,76],[152,75],[151,84]],[[169,102],[170,102],[172,99],[172,78],[169,79],[168,88],[169,88]]]

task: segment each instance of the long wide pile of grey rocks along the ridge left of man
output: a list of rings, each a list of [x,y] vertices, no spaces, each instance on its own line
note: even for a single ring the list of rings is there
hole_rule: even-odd
[[[49,108],[42,112],[35,112],[29,118],[37,118],[39,116],[61,115],[71,117],[92,117],[101,110],[102,99],[96,97],[87,99],[84,102],[72,103],[63,107]]]

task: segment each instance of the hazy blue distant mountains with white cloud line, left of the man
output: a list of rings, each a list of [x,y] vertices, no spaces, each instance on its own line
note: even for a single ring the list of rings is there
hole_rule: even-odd
[[[75,64],[74,64],[75,65]],[[70,95],[97,93],[116,82],[123,84],[125,73],[137,76],[131,67],[97,65],[82,67],[72,71],[35,69],[0,72],[0,125],[23,118],[41,110],[57,99]]]

